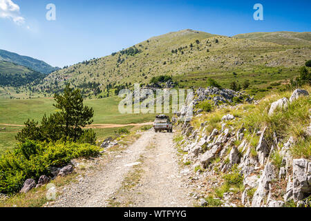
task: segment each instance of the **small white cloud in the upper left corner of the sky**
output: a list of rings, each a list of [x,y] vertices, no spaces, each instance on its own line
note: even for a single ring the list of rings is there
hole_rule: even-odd
[[[12,0],[0,0],[0,18],[12,19],[17,25],[25,23],[25,19],[21,17],[19,6]]]

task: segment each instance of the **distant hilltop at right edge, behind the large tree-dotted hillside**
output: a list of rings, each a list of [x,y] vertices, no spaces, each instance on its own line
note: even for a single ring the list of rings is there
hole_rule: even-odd
[[[281,45],[305,45],[311,44],[311,32],[253,32],[235,35],[239,39],[272,42]]]

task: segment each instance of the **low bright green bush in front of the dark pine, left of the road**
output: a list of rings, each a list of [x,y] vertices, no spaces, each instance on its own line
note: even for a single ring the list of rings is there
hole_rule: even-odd
[[[78,157],[95,157],[100,148],[73,142],[35,142],[26,140],[0,159],[0,193],[18,192],[26,179],[51,175],[50,166],[65,166]]]

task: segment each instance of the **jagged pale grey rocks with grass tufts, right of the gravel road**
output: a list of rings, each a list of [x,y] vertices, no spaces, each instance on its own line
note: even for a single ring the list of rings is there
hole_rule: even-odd
[[[198,99],[205,99],[205,89],[200,89],[198,95]],[[295,90],[292,95],[295,98],[290,100],[292,102],[303,95],[307,94]],[[274,115],[278,108],[288,108],[288,105],[288,99],[279,99],[272,103],[269,114]],[[311,164],[310,159],[293,159],[291,149],[296,142],[294,137],[284,137],[277,131],[271,133],[271,128],[267,127],[261,128],[261,131],[258,128],[250,130],[244,124],[239,124],[240,120],[241,117],[225,115],[221,122],[219,120],[221,130],[218,124],[211,133],[207,133],[211,125],[208,122],[196,122],[199,125],[196,128],[189,122],[182,124],[180,129],[185,138],[180,142],[180,148],[187,152],[184,162],[193,162],[193,169],[201,166],[200,173],[205,181],[207,176],[214,173],[231,173],[232,168],[236,169],[233,166],[237,165],[238,173],[243,175],[245,188],[243,193],[239,193],[239,198],[244,206],[282,207],[290,200],[294,200],[296,206],[305,206],[308,201],[305,199],[311,194]],[[234,125],[239,126],[234,128]],[[310,136],[309,127],[311,124],[303,128],[304,136]],[[257,139],[258,142],[254,143]],[[200,173],[196,173],[194,180],[198,179]],[[213,188],[221,182],[218,180]],[[232,198],[232,192],[223,194],[222,199],[227,205],[229,198]]]

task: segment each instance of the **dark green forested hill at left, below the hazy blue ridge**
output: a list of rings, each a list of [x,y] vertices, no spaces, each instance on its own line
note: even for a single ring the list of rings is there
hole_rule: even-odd
[[[25,66],[20,66],[8,61],[0,61],[0,86],[23,86],[32,81],[39,81],[46,77]]]

